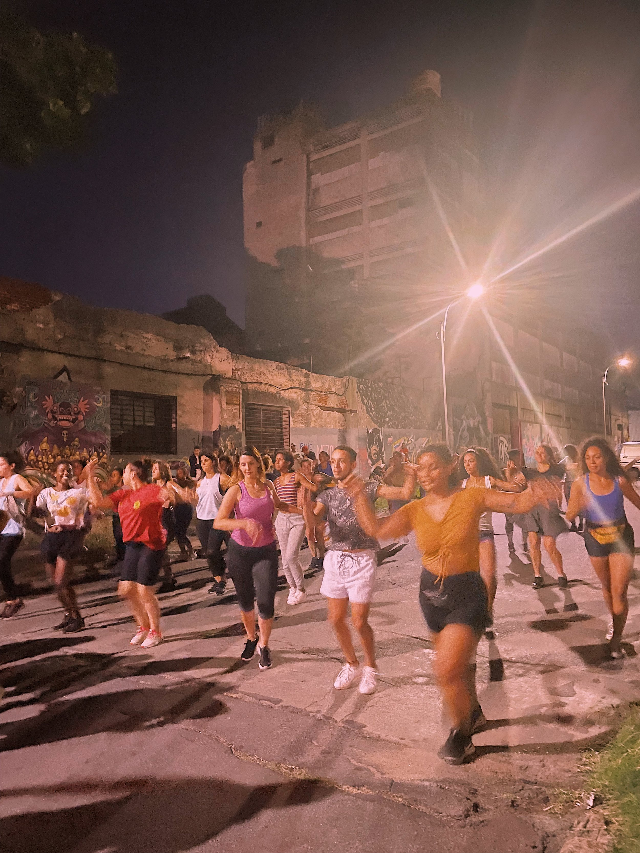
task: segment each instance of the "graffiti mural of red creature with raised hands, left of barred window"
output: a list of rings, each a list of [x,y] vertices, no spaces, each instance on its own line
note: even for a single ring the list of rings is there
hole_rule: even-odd
[[[60,460],[108,460],[107,396],[98,388],[49,380],[28,384],[18,435],[29,467],[52,471]]]

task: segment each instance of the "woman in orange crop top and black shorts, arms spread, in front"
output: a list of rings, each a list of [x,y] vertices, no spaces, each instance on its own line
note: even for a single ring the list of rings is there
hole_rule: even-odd
[[[471,665],[487,619],[487,590],[478,555],[480,515],[487,510],[527,513],[554,500],[556,489],[544,479],[532,480],[520,494],[459,489],[451,486],[456,462],[445,444],[431,445],[418,459],[418,482],[426,496],[388,518],[375,517],[358,483],[353,490],[358,520],[369,536],[393,539],[416,533],[423,566],[420,606],[433,631],[434,670],[452,725],[439,756],[462,764],[474,752],[471,735],[486,723]]]

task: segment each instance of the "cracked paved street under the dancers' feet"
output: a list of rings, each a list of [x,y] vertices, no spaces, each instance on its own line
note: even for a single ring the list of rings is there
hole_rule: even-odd
[[[207,595],[203,560],[175,566],[178,589],[161,596],[166,641],[149,651],[129,646],[114,577],[79,584],[78,635],[51,630],[50,591],[28,597],[0,623],[0,850],[560,850],[573,818],[550,808],[557,789],[579,785],[581,748],[640,698],[640,578],[627,657],[609,660],[580,537],[559,540],[568,589],[547,572],[534,591],[518,532],[510,559],[497,536],[495,641],[478,658],[490,722],[463,768],[436,757],[445,723],[412,542],[379,569],[382,675],[370,696],[332,688],[340,655],[319,576],[295,608],[282,584],[265,672],[257,658],[241,664],[233,587]],[[18,565],[19,580],[44,586],[25,554]]]

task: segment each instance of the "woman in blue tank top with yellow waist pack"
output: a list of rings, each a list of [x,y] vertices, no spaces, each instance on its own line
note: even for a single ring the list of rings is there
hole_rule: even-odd
[[[627,590],[635,553],[633,528],[626,519],[624,499],[640,509],[640,496],[602,438],[586,441],[580,459],[584,476],[571,487],[567,521],[578,515],[585,517],[585,547],[611,613],[607,632],[611,657],[621,658],[622,631],[629,614]]]

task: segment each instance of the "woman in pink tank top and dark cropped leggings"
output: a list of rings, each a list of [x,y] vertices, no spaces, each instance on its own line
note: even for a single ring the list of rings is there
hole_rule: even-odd
[[[241,659],[251,660],[258,646],[261,670],[271,667],[269,637],[278,577],[276,536],[271,521],[275,509],[281,513],[290,511],[288,504],[277,496],[271,480],[265,478],[258,450],[243,448],[236,457],[229,487],[213,526],[219,531],[231,531],[227,570],[236,587],[242,624],[247,631]],[[255,630],[256,600],[259,637]]]

